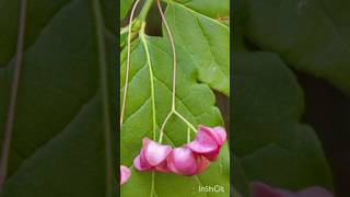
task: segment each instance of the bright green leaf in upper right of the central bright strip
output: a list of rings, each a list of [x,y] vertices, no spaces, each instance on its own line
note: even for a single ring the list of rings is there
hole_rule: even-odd
[[[166,9],[175,43],[185,47],[198,79],[225,95],[230,95],[230,27],[221,18],[229,15],[229,0],[168,1]]]

